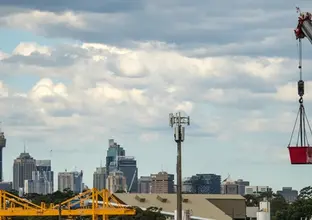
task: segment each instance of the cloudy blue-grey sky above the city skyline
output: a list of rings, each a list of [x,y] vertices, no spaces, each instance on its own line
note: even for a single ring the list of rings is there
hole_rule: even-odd
[[[140,176],[175,173],[169,113],[182,112],[183,177],[311,185],[312,166],[291,165],[287,149],[299,108],[296,6],[312,11],[300,0],[0,1],[4,179],[25,143],[92,186],[110,138]],[[304,39],[308,118],[311,52]]]

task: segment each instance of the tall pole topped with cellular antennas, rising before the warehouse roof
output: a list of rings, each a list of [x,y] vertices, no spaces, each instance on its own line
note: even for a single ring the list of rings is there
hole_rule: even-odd
[[[174,140],[177,142],[177,220],[182,220],[182,157],[181,143],[185,137],[185,127],[190,125],[190,117],[182,117],[181,113],[169,114],[169,125],[174,127]]]

